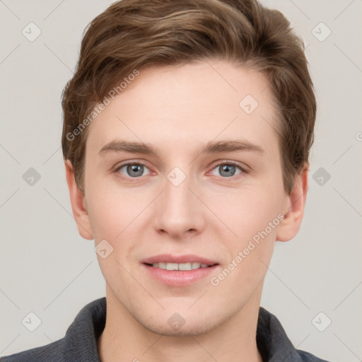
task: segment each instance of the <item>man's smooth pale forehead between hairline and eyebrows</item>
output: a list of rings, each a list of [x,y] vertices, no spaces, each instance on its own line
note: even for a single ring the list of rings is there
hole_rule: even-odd
[[[220,60],[151,67],[110,98],[88,130],[87,149],[99,152],[117,138],[182,152],[230,137],[273,146],[275,114],[260,72]]]

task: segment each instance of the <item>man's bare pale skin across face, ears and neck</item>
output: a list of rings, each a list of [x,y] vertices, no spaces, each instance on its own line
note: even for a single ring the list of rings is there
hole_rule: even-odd
[[[239,106],[248,94],[259,103],[250,115]],[[230,62],[144,69],[89,126],[84,193],[66,160],[79,233],[113,247],[105,259],[97,255],[107,298],[101,361],[262,361],[255,334],[264,276],[275,241],[298,233],[308,189],[306,166],[291,194],[284,191],[273,104],[264,74]],[[151,144],[157,156],[100,155],[115,139]],[[263,152],[198,154],[209,141],[236,139]],[[144,173],[117,170],[127,161],[144,164]],[[235,168],[227,177],[228,161],[247,172]],[[186,175],[177,187],[167,178],[176,166]],[[284,220],[267,238],[211,285],[279,214]],[[165,286],[140,263],[163,253],[219,265],[194,285]],[[178,330],[168,324],[174,313],[185,320]]]

